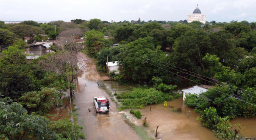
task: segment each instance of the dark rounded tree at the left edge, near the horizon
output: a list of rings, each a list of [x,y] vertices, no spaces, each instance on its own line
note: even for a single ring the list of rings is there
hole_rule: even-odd
[[[11,46],[16,39],[15,33],[0,28],[0,47]]]

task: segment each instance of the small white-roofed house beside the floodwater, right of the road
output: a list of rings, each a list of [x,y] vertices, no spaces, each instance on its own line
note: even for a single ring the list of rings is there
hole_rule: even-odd
[[[189,88],[182,89],[182,91],[183,91],[183,100],[185,100],[186,94],[188,95],[190,93],[190,94],[196,94],[197,96],[199,96],[201,93],[205,93],[206,91],[208,91],[208,88],[211,88],[211,87],[212,86],[194,85],[194,86],[191,86]]]

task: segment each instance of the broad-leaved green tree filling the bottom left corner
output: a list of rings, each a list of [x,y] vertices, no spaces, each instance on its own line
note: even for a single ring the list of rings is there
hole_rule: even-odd
[[[19,103],[0,100],[1,139],[58,139],[44,117],[27,114]]]

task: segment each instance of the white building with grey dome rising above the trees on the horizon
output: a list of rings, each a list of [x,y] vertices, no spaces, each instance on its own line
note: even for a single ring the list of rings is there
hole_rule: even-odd
[[[201,14],[201,10],[198,8],[198,4],[196,6],[196,9],[194,9],[193,14],[188,15],[188,23],[192,23],[193,21],[200,21],[201,23],[204,23],[204,24],[206,21],[206,15]]]

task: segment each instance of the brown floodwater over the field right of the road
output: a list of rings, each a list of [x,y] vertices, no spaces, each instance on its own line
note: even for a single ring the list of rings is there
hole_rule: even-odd
[[[104,82],[104,84],[108,89],[112,90],[112,93],[121,93],[122,91],[127,91],[129,89],[127,86],[119,85],[115,82]],[[179,88],[179,90],[180,89],[182,88]],[[199,114],[194,113],[193,108],[186,107],[182,97],[168,101],[167,103],[168,107],[164,107],[163,104],[152,105],[151,111],[150,105],[144,107],[140,110],[143,115],[141,119],[135,118],[133,114],[129,113],[129,110],[124,110],[123,112],[130,122],[138,126],[143,126],[142,121],[147,117],[149,127],[144,128],[151,138],[155,138],[155,130],[157,126],[159,126],[159,134],[156,139],[217,139],[212,130],[203,127],[196,120],[196,117],[199,116]],[[171,107],[182,108],[182,112],[174,112]],[[190,118],[188,118],[188,111],[190,111]],[[236,123],[239,123],[242,126],[244,125],[244,136],[256,136],[256,117],[251,117],[249,119],[238,117],[232,119],[230,122],[233,126]]]

